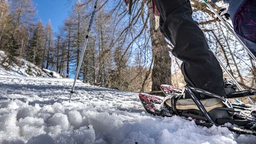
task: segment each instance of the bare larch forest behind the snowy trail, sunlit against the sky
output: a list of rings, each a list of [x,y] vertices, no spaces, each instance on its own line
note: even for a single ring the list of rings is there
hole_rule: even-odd
[[[0,50],[7,54],[3,62],[20,64],[19,57],[74,78],[94,3],[67,0],[72,10],[53,32],[50,20],[43,24],[38,19],[32,0],[0,0]],[[252,59],[202,0],[191,4],[211,50],[245,89],[255,90]],[[212,6],[218,11],[228,5],[219,1]],[[172,49],[157,27],[151,0],[134,0],[131,15],[124,0],[100,0],[79,79],[132,92],[157,92],[161,84],[182,87],[182,62],[172,56]]]

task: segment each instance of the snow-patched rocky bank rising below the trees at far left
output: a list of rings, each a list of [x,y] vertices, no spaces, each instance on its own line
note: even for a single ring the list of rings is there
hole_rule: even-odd
[[[2,75],[62,78],[57,72],[38,68],[38,66],[22,58],[17,58],[20,61],[20,65],[9,65],[4,60],[6,60],[6,54],[0,51],[0,74]]]

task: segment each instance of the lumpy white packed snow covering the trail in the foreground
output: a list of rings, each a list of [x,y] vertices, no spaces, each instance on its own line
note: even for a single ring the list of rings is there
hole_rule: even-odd
[[[1,144],[255,144],[256,137],[152,116],[138,94],[72,79],[0,75]]]

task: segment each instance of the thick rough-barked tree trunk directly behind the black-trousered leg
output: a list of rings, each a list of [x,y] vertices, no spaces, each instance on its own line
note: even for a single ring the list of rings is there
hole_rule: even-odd
[[[154,57],[154,65],[152,70],[152,91],[160,90],[161,84],[171,84],[171,66],[168,43],[164,35],[160,32],[160,28],[155,30],[155,16],[152,8],[151,0],[147,3],[150,18],[150,36],[152,41],[152,54]]]

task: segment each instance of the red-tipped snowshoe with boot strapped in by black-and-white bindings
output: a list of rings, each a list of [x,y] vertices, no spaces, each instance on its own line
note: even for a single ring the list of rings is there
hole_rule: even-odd
[[[207,127],[224,126],[226,123],[231,123],[231,126],[226,127],[234,132],[256,135],[255,106],[231,103],[228,98],[191,86],[185,86],[184,91],[188,92],[191,98],[182,99],[183,94],[180,89],[173,86],[168,86],[168,88],[169,91],[163,90],[168,91],[168,96],[164,99],[150,94],[139,94],[142,105],[148,113],[158,116],[178,115]],[[198,100],[194,93],[205,94],[212,98]]]

